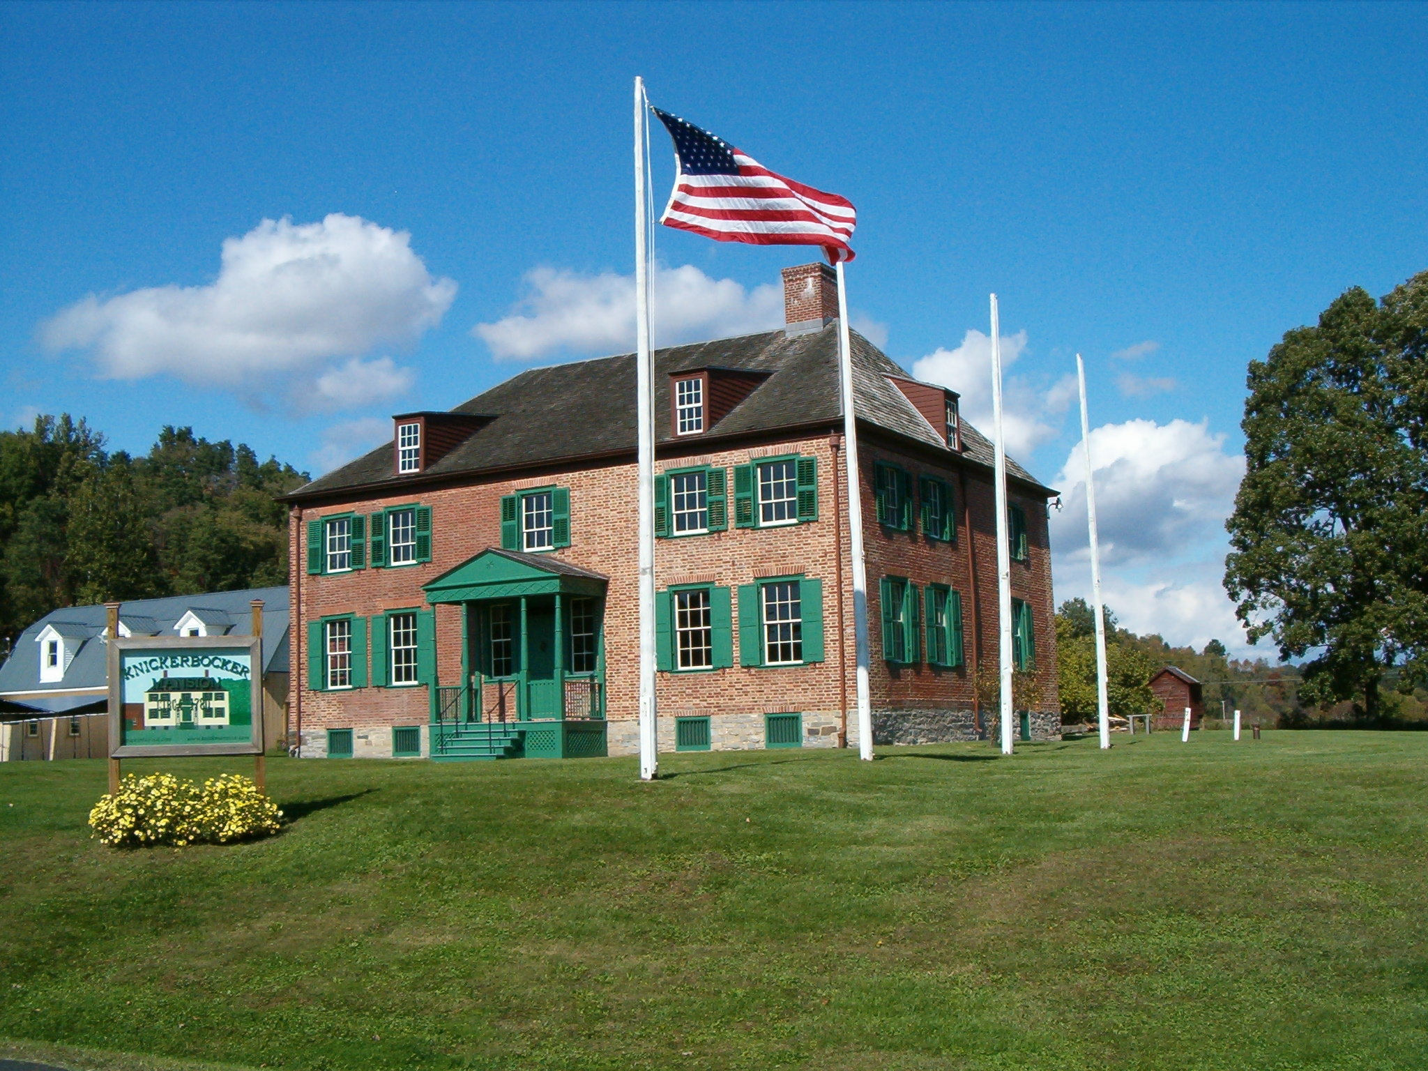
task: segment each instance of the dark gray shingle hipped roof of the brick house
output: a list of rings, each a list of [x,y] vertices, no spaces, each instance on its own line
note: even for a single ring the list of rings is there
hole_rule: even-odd
[[[908,373],[863,336],[853,333],[854,388],[861,421],[897,436],[947,450],[941,436],[885,374]],[[835,423],[838,407],[838,328],[788,337],[783,330],[720,338],[657,350],[654,423],[658,443],[674,441],[670,428],[670,373],[723,367],[771,373],[703,438],[740,436]],[[424,477],[478,473],[558,463],[598,454],[633,453],[635,448],[634,354],[600,357],[571,364],[530,368],[491,387],[453,413],[497,414],[470,438],[430,466]],[[991,466],[991,443],[962,424],[964,456]],[[401,487],[413,477],[393,476],[393,446],[364,457],[293,491],[303,498],[356,487]],[[1008,471],[1041,486],[1015,461]]]

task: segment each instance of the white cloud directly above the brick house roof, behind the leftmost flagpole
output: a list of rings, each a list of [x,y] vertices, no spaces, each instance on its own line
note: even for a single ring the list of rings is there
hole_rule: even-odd
[[[471,328],[496,360],[634,347],[633,276],[538,267],[526,273],[524,283],[526,294],[508,316]],[[657,266],[653,318],[655,346],[771,331],[784,323],[783,287],[745,290],[733,278],[710,278],[693,264]]]

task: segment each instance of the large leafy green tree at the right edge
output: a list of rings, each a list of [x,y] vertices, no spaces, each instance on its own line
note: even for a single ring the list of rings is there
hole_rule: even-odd
[[[1305,660],[1309,701],[1352,698],[1368,718],[1389,667],[1422,673],[1425,307],[1428,273],[1382,304],[1355,287],[1251,363],[1227,521],[1225,590],[1250,640]]]

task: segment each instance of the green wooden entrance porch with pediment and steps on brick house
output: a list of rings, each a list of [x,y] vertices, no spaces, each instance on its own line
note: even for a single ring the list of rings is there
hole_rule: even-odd
[[[431,758],[605,754],[608,580],[488,548],[423,587],[461,607],[461,680],[431,685]]]

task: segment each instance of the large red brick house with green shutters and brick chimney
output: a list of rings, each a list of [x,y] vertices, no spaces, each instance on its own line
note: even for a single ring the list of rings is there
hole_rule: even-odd
[[[661,750],[855,737],[837,293],[784,270],[785,327],[658,350]],[[853,336],[874,734],[995,731],[992,448],[958,396]],[[304,755],[633,754],[633,356],[533,368],[287,496]],[[1060,734],[1047,501],[1010,463],[1012,625]],[[855,738],[854,741],[855,743]]]

